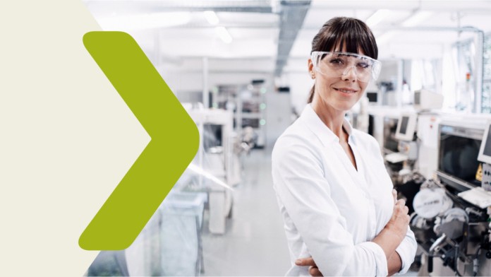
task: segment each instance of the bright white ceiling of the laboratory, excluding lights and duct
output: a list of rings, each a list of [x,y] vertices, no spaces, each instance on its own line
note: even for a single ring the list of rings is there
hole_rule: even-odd
[[[280,27],[279,1],[86,0],[85,3],[99,21],[135,14],[187,12],[189,20],[181,25],[128,30],[152,60],[159,59],[168,66],[174,64],[176,70],[196,67],[187,66],[183,59],[217,57],[220,61],[217,70],[224,70],[230,66],[231,70],[236,71],[242,64],[247,71],[274,71]],[[457,40],[475,37],[475,33],[471,32],[459,34],[456,31],[429,31],[426,27],[473,26],[491,33],[491,1],[313,0],[303,21],[303,27],[289,52],[287,69],[305,69],[310,43],[320,27],[330,18],[348,16],[367,20],[381,8],[387,8],[390,12],[372,30],[377,37],[382,59],[440,57],[443,47],[448,47]],[[218,25],[207,22],[202,12],[207,9],[216,11],[220,20]],[[404,20],[419,11],[430,11],[431,14],[418,22],[414,30],[401,28]],[[217,36],[214,30],[216,26],[227,28],[233,37],[230,44],[226,44]],[[104,28],[103,24],[102,27]],[[264,61],[241,62],[244,58],[262,58]],[[230,63],[226,62],[227,59]],[[210,62],[210,68],[211,66]]]

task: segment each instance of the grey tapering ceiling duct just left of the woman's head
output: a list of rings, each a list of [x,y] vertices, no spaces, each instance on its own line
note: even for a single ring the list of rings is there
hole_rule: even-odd
[[[302,28],[308,8],[310,8],[310,1],[281,1],[278,53],[274,76],[281,76],[293,42]]]

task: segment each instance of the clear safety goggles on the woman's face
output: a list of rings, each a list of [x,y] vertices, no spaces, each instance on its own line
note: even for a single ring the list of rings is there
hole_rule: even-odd
[[[353,69],[358,81],[377,80],[382,64],[367,56],[346,52],[312,52],[315,71],[329,77],[346,75]]]

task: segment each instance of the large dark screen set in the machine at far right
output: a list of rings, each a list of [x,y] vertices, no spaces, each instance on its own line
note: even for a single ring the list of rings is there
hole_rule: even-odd
[[[442,131],[438,169],[475,186],[480,185],[480,182],[475,179],[475,173],[479,167],[480,143],[478,139],[447,134]]]

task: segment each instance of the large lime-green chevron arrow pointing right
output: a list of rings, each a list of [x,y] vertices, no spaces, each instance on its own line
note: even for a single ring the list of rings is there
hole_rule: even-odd
[[[83,43],[152,138],[78,240],[126,249],[195,156],[198,129],[131,35],[90,32]]]

